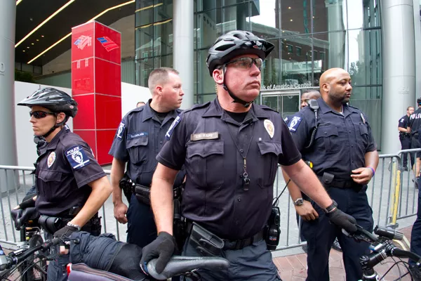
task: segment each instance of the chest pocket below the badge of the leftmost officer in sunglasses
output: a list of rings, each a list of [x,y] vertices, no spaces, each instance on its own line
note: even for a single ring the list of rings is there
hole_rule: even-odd
[[[62,185],[62,172],[43,170],[39,171],[39,193],[44,196],[48,202],[58,202],[62,198],[60,187]]]

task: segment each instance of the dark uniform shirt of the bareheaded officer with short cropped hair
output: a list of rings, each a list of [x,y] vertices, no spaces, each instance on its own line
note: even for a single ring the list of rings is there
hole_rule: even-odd
[[[109,150],[109,154],[114,158],[128,162],[127,174],[132,181],[147,187],[152,183],[152,176],[158,164],[156,155],[163,146],[165,133],[181,112],[168,112],[161,124],[150,107],[150,101],[123,117]],[[175,184],[181,184],[180,176]]]

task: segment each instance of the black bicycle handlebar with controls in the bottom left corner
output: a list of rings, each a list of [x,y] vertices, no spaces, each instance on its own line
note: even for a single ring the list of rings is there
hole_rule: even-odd
[[[12,277],[16,273],[16,270],[19,271],[20,276],[23,276],[25,273],[30,272],[34,268],[41,270],[43,273],[41,278],[45,279],[39,280],[46,280],[46,270],[41,268],[39,263],[46,263],[48,260],[49,249],[62,242],[62,240],[55,238],[53,240],[42,242],[41,244],[39,240],[34,241],[36,244],[33,244],[28,248],[22,247],[15,251],[11,251],[11,253],[7,256],[0,245],[0,280],[11,280],[9,277]],[[20,276],[14,280],[18,280]]]

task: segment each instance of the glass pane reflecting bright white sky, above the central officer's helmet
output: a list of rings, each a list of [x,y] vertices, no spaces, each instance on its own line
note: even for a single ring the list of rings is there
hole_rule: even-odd
[[[279,4],[278,0],[250,1],[251,32],[258,33],[260,38],[279,37]],[[257,6],[258,5],[258,6]]]

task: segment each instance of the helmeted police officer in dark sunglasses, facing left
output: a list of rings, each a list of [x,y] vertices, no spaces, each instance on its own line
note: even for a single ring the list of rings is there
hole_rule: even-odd
[[[98,210],[112,189],[89,145],[65,129],[69,117],[76,115],[76,101],[63,91],[45,88],[18,105],[31,108],[29,122],[34,135],[46,141],[36,159],[34,197],[46,239],[69,236],[79,230],[99,235]],[[58,252],[59,247],[53,251]],[[67,263],[68,254],[51,261],[48,280],[67,280]]]

